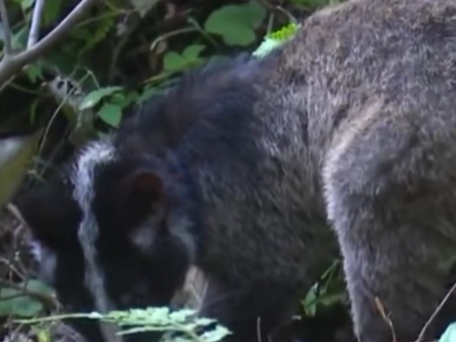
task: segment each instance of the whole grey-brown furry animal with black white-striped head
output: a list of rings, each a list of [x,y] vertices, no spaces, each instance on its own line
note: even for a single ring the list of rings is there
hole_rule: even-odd
[[[166,305],[197,266],[202,314],[264,340],[340,250],[358,340],[392,340],[378,298],[412,342],[456,251],[456,2],[320,10],[262,60],[184,76],[71,165],[19,205],[67,309]]]

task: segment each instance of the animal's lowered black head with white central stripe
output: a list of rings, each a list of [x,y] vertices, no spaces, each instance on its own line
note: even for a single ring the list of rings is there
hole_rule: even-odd
[[[93,142],[20,201],[40,275],[67,311],[168,305],[182,286],[194,255],[190,216],[179,171],[162,164]]]

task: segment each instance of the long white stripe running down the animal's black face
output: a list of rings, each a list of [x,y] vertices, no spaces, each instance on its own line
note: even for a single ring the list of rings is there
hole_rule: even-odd
[[[95,166],[114,160],[114,156],[111,141],[93,142],[79,155],[71,175],[71,182],[74,185],[73,197],[83,213],[78,237],[85,257],[85,286],[94,299],[96,309],[102,313],[114,310],[115,307],[105,291],[104,275],[97,261],[95,241],[98,237],[98,225],[91,211],[91,203],[94,199]],[[123,341],[121,336],[116,336],[115,325],[100,322],[100,329],[105,341]]]

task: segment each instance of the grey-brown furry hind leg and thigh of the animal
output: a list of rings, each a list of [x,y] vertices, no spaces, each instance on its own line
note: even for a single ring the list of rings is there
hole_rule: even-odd
[[[448,291],[448,260],[456,253],[456,140],[448,139],[450,127],[428,126],[424,116],[414,126],[416,115],[381,105],[368,110],[328,152],[327,212],[358,340],[412,342]],[[425,341],[456,320],[455,304],[453,296]]]

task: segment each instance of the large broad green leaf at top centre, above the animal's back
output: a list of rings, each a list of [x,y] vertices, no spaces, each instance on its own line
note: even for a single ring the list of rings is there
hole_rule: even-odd
[[[209,15],[204,30],[221,35],[228,45],[247,46],[254,42],[254,28],[263,22],[266,14],[266,9],[256,1],[223,6]]]

